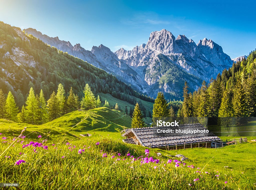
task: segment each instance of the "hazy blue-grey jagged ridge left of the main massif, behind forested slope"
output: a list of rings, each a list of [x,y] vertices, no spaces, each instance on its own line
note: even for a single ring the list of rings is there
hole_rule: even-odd
[[[82,48],[80,44],[72,46],[69,41],[59,40],[58,37],[53,38],[43,35],[33,28],[27,28],[24,31],[63,52],[68,52],[68,54],[78,57],[95,67],[113,73],[119,80],[133,85],[135,89],[141,91],[138,84],[145,83],[145,81],[138,76],[136,71],[126,65],[124,61],[120,60],[109,48],[102,44],[99,47],[93,46],[92,50],[88,51]]]

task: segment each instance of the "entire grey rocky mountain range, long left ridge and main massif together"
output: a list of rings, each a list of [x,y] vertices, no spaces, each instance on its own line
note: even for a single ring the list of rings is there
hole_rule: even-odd
[[[88,51],[80,44],[72,46],[69,41],[42,35],[32,28],[24,31],[95,67],[113,73],[118,79],[152,97],[156,97],[158,91],[163,91],[168,99],[182,98],[180,92],[185,81],[189,81],[190,90],[193,91],[203,80],[209,81],[233,63],[221,46],[212,40],[204,38],[196,44],[184,35],[175,39],[165,29],[152,32],[146,44],[129,51],[121,48],[114,53],[103,45],[93,46]],[[168,63],[164,64],[164,68],[161,68],[161,60]]]

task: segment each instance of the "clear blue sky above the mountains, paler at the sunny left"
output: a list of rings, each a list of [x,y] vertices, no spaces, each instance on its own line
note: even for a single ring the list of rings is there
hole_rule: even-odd
[[[152,31],[167,29],[197,44],[212,39],[231,58],[256,48],[254,1],[28,1],[0,0],[0,20],[35,28],[91,50],[115,51],[146,43]]]

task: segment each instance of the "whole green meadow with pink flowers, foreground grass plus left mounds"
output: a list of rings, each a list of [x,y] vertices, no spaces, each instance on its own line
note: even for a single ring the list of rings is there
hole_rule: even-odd
[[[149,149],[145,155],[146,147],[122,142],[120,131],[130,123],[108,108],[74,111],[43,125],[1,119],[0,182],[19,183],[19,189],[256,189],[256,138],[217,149]],[[80,136],[87,133],[92,136]]]

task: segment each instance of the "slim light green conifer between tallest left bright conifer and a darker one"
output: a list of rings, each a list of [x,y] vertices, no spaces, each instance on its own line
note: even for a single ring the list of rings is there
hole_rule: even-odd
[[[42,89],[39,94],[38,104],[39,104],[39,110],[38,110],[39,124],[44,124],[48,121],[48,112],[47,112],[45,96]]]

